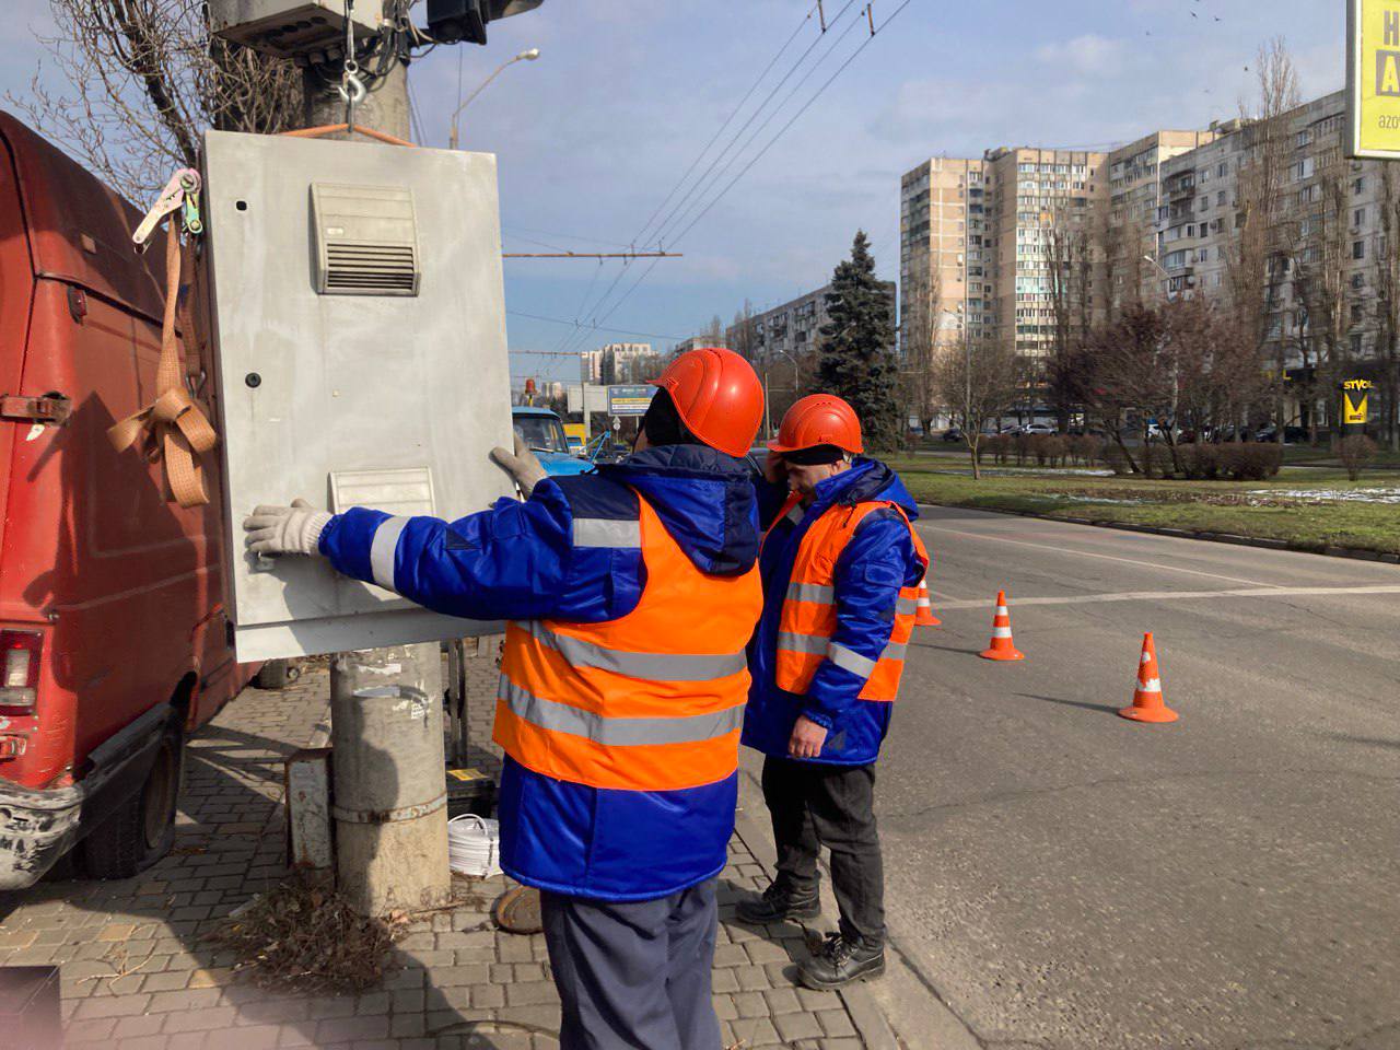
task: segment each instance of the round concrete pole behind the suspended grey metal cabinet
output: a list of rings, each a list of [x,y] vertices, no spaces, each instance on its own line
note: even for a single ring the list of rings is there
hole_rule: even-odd
[[[308,127],[346,123],[344,99],[309,70],[304,90]],[[365,94],[354,125],[409,139],[403,63]],[[330,739],[340,892],[367,916],[442,904],[452,875],[438,643],[337,652],[330,661]]]

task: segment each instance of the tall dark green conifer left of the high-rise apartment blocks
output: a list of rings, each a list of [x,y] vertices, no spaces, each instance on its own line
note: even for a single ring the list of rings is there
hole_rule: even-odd
[[[900,438],[890,293],[875,279],[875,259],[865,231],[855,234],[851,258],[832,276],[826,294],[830,323],[822,326],[816,386],[855,409],[865,442],[893,448]]]

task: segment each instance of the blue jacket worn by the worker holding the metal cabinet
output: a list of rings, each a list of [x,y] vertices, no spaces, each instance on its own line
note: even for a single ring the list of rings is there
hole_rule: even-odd
[[[342,573],[449,616],[605,623],[633,612],[647,585],[637,528],[626,528],[640,518],[638,494],[700,571],[753,567],[752,475],[701,445],[546,479],[525,503],[501,500],[451,524],[354,508],[330,519],[321,552]],[[736,773],[685,791],[622,791],[546,777],[507,756],[501,867],[573,896],[668,896],[724,868],[736,801]]]

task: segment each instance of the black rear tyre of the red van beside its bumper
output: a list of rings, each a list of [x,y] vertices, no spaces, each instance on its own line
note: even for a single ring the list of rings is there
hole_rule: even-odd
[[[161,738],[141,790],[78,846],[78,862],[90,879],[129,879],[171,851],[183,748],[183,732],[172,722]]]

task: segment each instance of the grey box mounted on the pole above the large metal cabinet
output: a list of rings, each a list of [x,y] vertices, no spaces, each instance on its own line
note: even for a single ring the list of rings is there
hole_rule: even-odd
[[[350,11],[357,39],[379,35],[382,0],[356,0]],[[209,0],[209,29],[279,59],[344,52],[344,0]]]

